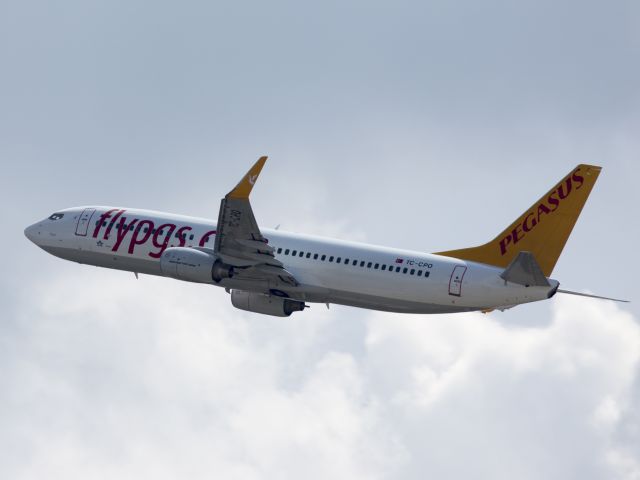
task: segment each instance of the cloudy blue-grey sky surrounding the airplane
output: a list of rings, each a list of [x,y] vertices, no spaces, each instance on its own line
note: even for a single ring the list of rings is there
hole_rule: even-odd
[[[0,477],[640,479],[640,6],[633,1],[0,2]],[[78,205],[425,252],[603,171],[506,312],[235,310],[64,262]]]

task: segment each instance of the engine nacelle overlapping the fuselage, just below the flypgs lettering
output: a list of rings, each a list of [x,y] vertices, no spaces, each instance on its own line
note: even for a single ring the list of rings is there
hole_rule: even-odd
[[[167,277],[198,283],[218,283],[233,276],[233,267],[214,255],[195,248],[167,248],[160,257],[160,270]]]

